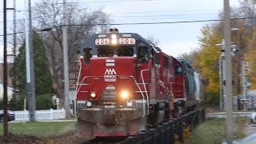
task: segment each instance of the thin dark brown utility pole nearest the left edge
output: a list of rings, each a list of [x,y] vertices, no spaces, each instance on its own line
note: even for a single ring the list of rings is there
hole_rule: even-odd
[[[3,1],[3,138],[8,135],[7,122],[7,28],[6,28],[6,0]]]

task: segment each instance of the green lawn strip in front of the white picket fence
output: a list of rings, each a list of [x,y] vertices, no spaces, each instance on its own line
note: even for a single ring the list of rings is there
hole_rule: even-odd
[[[26,134],[37,137],[64,134],[74,130],[76,122],[18,122],[8,123],[8,131],[11,134]],[[3,133],[3,124],[0,125],[0,135]]]

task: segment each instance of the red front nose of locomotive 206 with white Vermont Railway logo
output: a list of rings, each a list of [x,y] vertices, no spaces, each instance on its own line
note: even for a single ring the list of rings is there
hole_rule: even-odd
[[[90,75],[101,78],[90,82],[91,90],[102,100],[128,100],[134,90],[133,57],[105,57],[92,58],[90,61]]]

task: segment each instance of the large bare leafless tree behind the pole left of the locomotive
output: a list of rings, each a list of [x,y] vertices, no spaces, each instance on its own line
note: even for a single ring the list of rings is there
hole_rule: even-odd
[[[62,61],[62,3],[59,0],[42,0],[34,6],[35,20],[40,29],[53,28],[42,33],[43,42],[46,46],[47,56],[50,59],[51,75],[54,79],[54,93],[60,98],[61,107],[64,106],[63,97],[63,61]],[[68,19],[68,48],[70,62],[70,79],[74,80],[74,61],[77,59],[77,50],[82,46],[90,34],[106,32],[110,18],[102,10],[89,11],[74,3],[66,4],[66,18]],[[76,25],[76,26],[74,26]],[[70,86],[74,82],[70,81]]]

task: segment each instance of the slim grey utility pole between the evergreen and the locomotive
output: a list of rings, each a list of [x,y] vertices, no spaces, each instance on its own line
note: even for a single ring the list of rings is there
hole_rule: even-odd
[[[68,44],[67,44],[67,34],[66,34],[66,0],[63,0],[63,69],[64,69],[64,105],[66,110],[66,118],[70,118],[70,79],[69,79],[69,57],[68,57]]]

